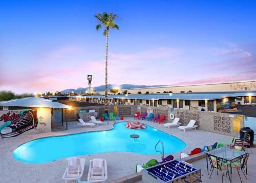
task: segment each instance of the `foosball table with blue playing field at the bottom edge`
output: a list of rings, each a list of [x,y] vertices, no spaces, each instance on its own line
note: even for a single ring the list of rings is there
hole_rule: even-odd
[[[181,159],[162,163],[142,170],[142,182],[145,183],[192,183],[202,182],[201,169]]]

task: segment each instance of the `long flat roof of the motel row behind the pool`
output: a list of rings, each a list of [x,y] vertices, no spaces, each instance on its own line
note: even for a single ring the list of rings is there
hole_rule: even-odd
[[[171,94],[126,94],[126,95],[108,95],[109,99],[141,99],[141,100],[159,100],[159,99],[180,99],[180,100],[216,100],[226,97],[239,98],[241,96],[256,96],[256,91],[227,91],[227,92],[195,92],[195,93],[171,93]],[[99,98],[104,95],[93,96],[69,96],[71,98]]]

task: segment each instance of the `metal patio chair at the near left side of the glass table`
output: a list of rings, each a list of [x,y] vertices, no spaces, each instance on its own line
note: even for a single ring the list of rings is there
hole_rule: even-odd
[[[214,171],[214,169],[217,169],[217,175],[218,175],[218,171],[221,171],[221,178],[222,178],[222,183],[223,183],[223,175],[224,175],[223,171],[224,170],[227,171],[227,174],[229,177],[228,163],[222,158],[211,156],[211,155],[208,155],[208,159],[209,159],[211,169],[212,169],[212,171],[210,173],[210,177],[211,177],[211,174]],[[229,181],[230,181],[230,177],[229,177]]]

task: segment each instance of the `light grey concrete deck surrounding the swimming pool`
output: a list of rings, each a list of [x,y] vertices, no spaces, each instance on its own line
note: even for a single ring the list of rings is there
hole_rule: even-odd
[[[133,118],[125,118],[124,121],[130,121],[132,119]],[[141,120],[138,120],[138,121],[141,121]],[[186,152],[186,153],[189,153],[191,150],[193,150],[196,147],[202,148],[206,144],[210,145],[220,140],[232,139],[232,137],[230,136],[207,132],[203,130],[188,130],[186,132],[183,132],[183,131],[179,131],[178,128],[170,128],[170,129],[164,128],[162,124],[156,124],[156,123],[147,122],[147,121],[146,122],[141,121],[141,122],[144,122],[145,124],[153,126],[157,129],[160,129],[164,132],[172,134],[177,138],[183,140],[186,143],[186,148],[182,150],[182,152]],[[17,146],[33,139],[37,139],[45,136],[65,135],[65,134],[72,134],[72,133],[79,133],[79,132],[86,132],[86,131],[109,130],[113,128],[113,124],[114,124],[114,122],[111,121],[110,125],[107,125],[106,123],[104,123],[102,125],[98,125],[93,128],[90,128],[90,127],[79,127],[77,123],[78,123],[77,121],[68,122],[69,129],[66,131],[40,133],[40,134],[34,134],[34,135],[26,135],[25,133],[13,138],[1,139],[0,140],[1,182],[65,182],[61,178],[66,168],[65,158],[57,159],[56,161],[47,162],[47,163],[30,164],[30,163],[17,161],[15,158],[13,158],[12,153]],[[254,152],[255,152],[255,148],[254,148]],[[165,156],[166,155],[168,154],[165,154]],[[179,158],[180,152],[172,153],[172,155],[174,155],[175,158]],[[87,179],[90,159],[93,159],[93,158],[106,159],[108,163],[108,181],[112,181],[120,177],[123,177],[125,175],[130,175],[132,173],[135,173],[136,163],[142,165],[152,158],[158,159],[159,161],[161,159],[160,154],[145,155],[145,154],[137,154],[132,152],[106,152],[106,153],[98,153],[98,154],[91,154],[91,155],[81,155],[78,157],[86,158],[86,165],[85,165],[82,180]],[[250,159],[255,160],[255,155],[250,154],[249,160]],[[204,169],[204,167],[206,166],[206,163],[205,161],[203,161],[202,163],[203,164],[201,168]],[[199,165],[200,165],[200,162],[199,162]],[[207,171],[207,170],[203,170],[203,171]],[[249,171],[249,174],[252,174],[252,173],[253,173],[253,170],[251,168]],[[254,174],[256,174],[255,170],[254,170]],[[244,179],[245,178],[243,178],[243,180]],[[207,179],[207,182],[211,182],[211,181],[214,182],[214,178],[210,179],[210,181],[208,181]]]

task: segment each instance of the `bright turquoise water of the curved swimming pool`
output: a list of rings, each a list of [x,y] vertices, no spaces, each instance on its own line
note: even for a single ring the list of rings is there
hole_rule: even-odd
[[[18,146],[13,156],[22,162],[44,163],[58,158],[101,152],[126,151],[141,154],[158,154],[156,143],[161,140],[164,153],[181,151],[186,144],[173,135],[151,126],[136,130],[138,139],[130,138],[134,129],[124,127],[125,122],[116,123],[113,130],[51,136],[29,141]],[[161,146],[158,147],[161,149]]]

